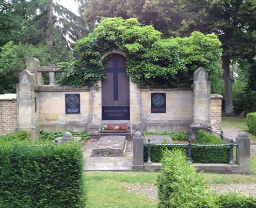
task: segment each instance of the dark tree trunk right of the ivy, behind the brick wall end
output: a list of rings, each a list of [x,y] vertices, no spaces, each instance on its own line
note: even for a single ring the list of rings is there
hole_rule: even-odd
[[[225,83],[225,113],[233,112],[232,100],[232,80],[230,77],[230,57],[227,55],[222,56],[222,69],[224,70],[223,78]]]

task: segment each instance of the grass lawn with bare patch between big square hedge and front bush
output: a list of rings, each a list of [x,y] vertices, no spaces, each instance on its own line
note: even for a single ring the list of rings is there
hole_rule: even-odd
[[[156,172],[86,172],[88,208],[156,208]]]

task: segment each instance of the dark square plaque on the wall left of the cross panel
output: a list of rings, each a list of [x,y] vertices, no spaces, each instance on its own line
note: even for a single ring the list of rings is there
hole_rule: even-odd
[[[80,113],[80,94],[65,94],[66,114]]]

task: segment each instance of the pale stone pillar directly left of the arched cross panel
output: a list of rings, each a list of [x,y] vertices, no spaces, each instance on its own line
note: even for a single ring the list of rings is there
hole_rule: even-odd
[[[90,90],[90,119],[87,133],[93,137],[99,134],[99,126],[101,125],[101,81],[91,87]]]

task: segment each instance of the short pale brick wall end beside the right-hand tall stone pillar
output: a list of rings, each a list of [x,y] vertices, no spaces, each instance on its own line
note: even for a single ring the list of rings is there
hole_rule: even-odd
[[[222,96],[211,94],[211,127],[212,130],[220,132],[222,129]]]

